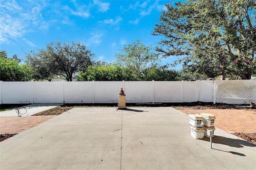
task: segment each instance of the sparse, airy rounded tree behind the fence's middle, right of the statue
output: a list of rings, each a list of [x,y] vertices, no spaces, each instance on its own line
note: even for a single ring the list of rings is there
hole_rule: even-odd
[[[142,71],[156,65],[159,60],[158,54],[152,51],[151,45],[145,46],[140,40],[124,45],[115,57],[116,62],[121,67],[130,69],[138,81],[142,80]]]

